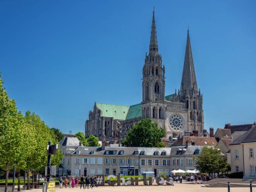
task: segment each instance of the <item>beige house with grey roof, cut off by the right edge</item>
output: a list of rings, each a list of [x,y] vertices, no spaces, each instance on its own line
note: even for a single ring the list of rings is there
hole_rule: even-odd
[[[231,172],[243,172],[244,179],[256,179],[256,125],[230,144]]]

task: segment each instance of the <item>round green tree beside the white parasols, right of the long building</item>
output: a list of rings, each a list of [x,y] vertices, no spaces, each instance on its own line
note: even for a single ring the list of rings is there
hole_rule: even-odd
[[[222,154],[220,154],[220,150],[218,150],[218,148],[209,148],[205,146],[196,158],[195,167],[200,172],[210,174],[220,172],[222,164],[224,164],[224,158]]]

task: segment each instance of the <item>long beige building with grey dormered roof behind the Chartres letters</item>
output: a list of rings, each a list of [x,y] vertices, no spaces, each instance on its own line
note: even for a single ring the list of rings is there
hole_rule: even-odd
[[[71,140],[71,139],[70,139]],[[61,144],[62,143],[62,144]],[[94,174],[139,175],[154,172],[170,175],[174,169],[195,169],[196,156],[203,146],[175,146],[172,148],[131,148],[116,145],[104,147],[77,146],[75,149],[61,142],[64,154],[63,174],[73,176]],[[60,173],[61,174],[61,173]]]

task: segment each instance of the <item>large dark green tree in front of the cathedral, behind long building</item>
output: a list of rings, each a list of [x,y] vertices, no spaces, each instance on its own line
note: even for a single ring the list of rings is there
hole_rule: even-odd
[[[162,147],[161,139],[164,135],[164,129],[158,127],[157,123],[151,119],[142,119],[128,131],[122,144],[127,147]]]

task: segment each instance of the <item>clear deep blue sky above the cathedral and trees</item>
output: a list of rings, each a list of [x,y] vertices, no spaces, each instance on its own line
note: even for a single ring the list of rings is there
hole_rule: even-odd
[[[205,128],[256,121],[256,1],[0,1],[0,71],[10,98],[64,133],[94,102],[141,102],[152,9],[166,95],[181,86],[187,26]]]

